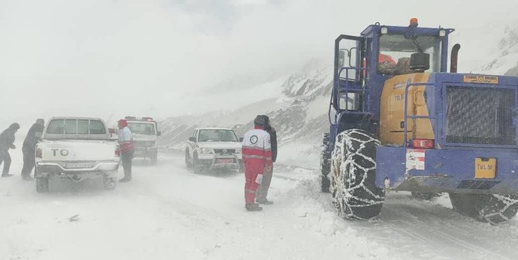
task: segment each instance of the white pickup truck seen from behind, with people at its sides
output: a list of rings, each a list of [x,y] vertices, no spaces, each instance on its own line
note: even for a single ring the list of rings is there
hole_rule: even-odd
[[[36,191],[49,191],[52,178],[103,178],[106,189],[115,189],[119,161],[118,141],[102,119],[53,117],[36,145]]]

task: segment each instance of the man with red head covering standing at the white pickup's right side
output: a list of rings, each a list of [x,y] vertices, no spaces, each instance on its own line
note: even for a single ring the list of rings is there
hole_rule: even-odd
[[[120,119],[118,122],[119,129],[117,136],[120,145],[120,160],[122,168],[124,168],[124,177],[119,182],[129,182],[131,180],[131,160],[133,159],[133,135],[128,128],[128,122]]]

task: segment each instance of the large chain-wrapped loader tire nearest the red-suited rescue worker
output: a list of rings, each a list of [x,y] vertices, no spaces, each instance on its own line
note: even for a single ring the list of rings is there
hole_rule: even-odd
[[[346,130],[337,136],[330,191],[343,218],[367,220],[381,212],[385,190],[375,185],[378,146],[380,141],[364,130]]]

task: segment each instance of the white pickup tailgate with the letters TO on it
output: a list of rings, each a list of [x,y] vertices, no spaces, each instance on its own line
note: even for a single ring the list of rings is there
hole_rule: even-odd
[[[115,159],[116,141],[44,140],[40,143],[42,162],[106,161]]]

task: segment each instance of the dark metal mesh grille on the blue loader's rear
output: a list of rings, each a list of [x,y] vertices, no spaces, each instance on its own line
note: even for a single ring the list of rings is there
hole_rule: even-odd
[[[512,125],[515,89],[448,86],[446,96],[448,143],[516,144]]]

